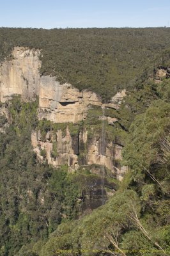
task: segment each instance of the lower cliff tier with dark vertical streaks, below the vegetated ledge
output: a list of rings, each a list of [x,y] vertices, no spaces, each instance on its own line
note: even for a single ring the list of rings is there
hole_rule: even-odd
[[[65,132],[61,130],[47,132],[45,140],[42,140],[41,132],[33,131],[31,135],[33,150],[40,160],[47,159],[48,163],[54,166],[66,164],[72,171],[77,170],[79,166],[97,164],[105,166],[121,180],[127,171],[125,166],[118,164],[122,159],[123,145],[113,141],[103,141],[101,132],[92,131],[93,136],[89,135],[89,132],[91,134],[91,131],[83,129],[79,134],[71,136],[66,127]],[[44,152],[43,156],[41,152]]]

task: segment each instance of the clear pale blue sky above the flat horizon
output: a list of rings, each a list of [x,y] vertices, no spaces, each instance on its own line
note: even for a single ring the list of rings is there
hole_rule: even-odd
[[[0,27],[170,26],[170,0],[0,0]]]

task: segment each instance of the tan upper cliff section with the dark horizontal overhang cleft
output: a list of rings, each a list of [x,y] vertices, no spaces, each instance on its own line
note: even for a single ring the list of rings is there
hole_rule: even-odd
[[[41,77],[38,118],[54,123],[77,123],[87,116],[89,104],[102,106],[93,92],[79,92],[71,84],[59,84],[55,77]]]

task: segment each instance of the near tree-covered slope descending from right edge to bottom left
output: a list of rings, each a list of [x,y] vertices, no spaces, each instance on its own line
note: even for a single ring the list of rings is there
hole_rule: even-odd
[[[169,89],[168,79],[147,81],[118,111],[128,128],[123,158],[129,171],[112,198],[61,223],[45,244],[23,246],[19,255],[169,255]]]

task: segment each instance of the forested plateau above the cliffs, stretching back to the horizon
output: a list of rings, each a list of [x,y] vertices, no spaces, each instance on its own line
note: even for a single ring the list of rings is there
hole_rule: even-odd
[[[137,76],[162,62],[161,52],[170,47],[170,29],[0,28],[0,60],[14,46],[42,49],[42,74],[108,99],[119,88],[133,88]]]

